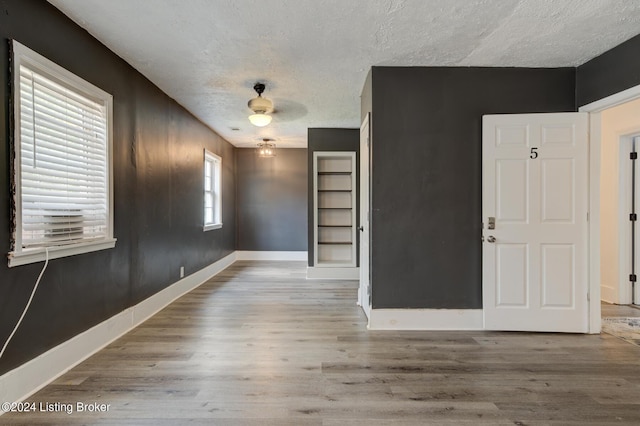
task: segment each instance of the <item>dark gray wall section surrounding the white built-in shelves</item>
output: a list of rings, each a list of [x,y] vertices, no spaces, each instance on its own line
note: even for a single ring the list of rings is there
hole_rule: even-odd
[[[336,128],[312,128],[307,131],[307,167],[309,170],[308,179],[308,254],[309,266],[313,266],[315,250],[313,247],[313,210],[315,203],[313,199],[313,153],[316,151],[351,151],[356,153],[356,226],[360,226],[359,188],[360,188],[360,162],[358,153],[360,152],[360,130],[359,129],[336,129]],[[356,259],[359,262],[359,241],[356,247]]]

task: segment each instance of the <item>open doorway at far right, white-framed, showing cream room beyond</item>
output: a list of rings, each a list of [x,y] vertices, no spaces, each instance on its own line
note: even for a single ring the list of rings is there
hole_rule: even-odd
[[[630,306],[632,260],[638,265],[639,250],[635,250],[635,259],[631,254],[632,185],[626,161],[630,161],[634,137],[640,134],[640,86],[585,105],[580,111],[590,113],[589,329],[597,333],[601,314],[614,315],[620,303]],[[625,315],[635,313],[631,309]]]

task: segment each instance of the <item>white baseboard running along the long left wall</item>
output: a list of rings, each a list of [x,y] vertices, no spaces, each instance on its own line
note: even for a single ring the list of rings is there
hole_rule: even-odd
[[[0,377],[0,402],[22,401],[236,260],[232,253]],[[2,413],[0,412],[0,415]]]

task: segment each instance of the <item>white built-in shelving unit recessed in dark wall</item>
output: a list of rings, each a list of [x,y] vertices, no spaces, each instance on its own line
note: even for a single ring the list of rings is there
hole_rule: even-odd
[[[315,266],[355,267],[355,153],[315,152],[313,160]]]

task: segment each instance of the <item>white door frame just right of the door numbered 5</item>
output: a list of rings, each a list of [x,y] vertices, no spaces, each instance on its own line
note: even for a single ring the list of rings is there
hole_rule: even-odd
[[[600,161],[601,112],[640,98],[640,85],[607,96],[578,108],[589,113],[589,333],[600,333]]]

